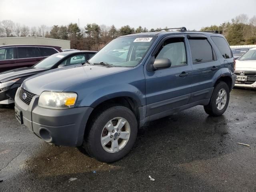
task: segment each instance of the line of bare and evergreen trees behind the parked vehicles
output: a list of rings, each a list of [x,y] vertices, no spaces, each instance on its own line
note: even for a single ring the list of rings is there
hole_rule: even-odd
[[[168,31],[166,26],[163,30]],[[71,48],[80,50],[99,50],[110,40],[123,35],[148,32],[159,30],[161,28],[151,28],[138,26],[133,28],[125,25],[116,28],[114,25],[106,26],[96,23],[87,24],[80,28],[77,23],[64,25],[54,25],[47,27],[46,25],[33,26],[29,28],[20,23],[14,23],[11,20],[0,21],[0,37],[26,37],[38,36],[46,38],[55,38],[62,40],[70,40]],[[218,30],[223,34],[230,45],[256,44],[256,16],[248,18],[246,14],[240,14],[231,21],[218,25],[202,27],[201,31]]]

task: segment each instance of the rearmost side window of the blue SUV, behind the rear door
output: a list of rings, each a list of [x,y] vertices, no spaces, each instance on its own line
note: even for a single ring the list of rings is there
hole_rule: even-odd
[[[211,38],[225,59],[232,58],[231,50],[223,37],[212,36]]]

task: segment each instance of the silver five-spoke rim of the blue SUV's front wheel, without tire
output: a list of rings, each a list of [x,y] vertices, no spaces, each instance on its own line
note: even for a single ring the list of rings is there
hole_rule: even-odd
[[[127,144],[130,138],[130,124],[125,118],[115,117],[104,126],[101,145],[107,152],[116,153]]]

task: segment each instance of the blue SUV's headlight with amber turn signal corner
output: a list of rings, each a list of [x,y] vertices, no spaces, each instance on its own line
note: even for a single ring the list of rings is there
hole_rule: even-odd
[[[38,106],[51,109],[73,108],[76,98],[76,93],[44,91],[39,97]]]

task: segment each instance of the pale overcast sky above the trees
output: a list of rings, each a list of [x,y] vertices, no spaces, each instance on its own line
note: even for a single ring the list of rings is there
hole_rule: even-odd
[[[29,27],[78,23],[190,30],[256,15],[256,0],[0,0],[0,21]]]

